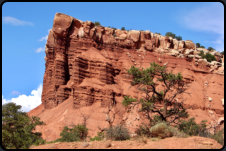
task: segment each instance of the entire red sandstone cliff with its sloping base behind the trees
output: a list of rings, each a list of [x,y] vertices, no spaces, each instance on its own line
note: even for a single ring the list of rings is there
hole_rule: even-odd
[[[91,124],[88,124],[88,128],[93,129],[90,133],[95,135],[98,125],[107,126],[102,117],[105,114],[101,111],[110,104],[115,104],[115,110],[119,111],[114,123],[124,120],[131,130],[135,130],[136,125],[142,122],[139,108],[134,109],[131,115],[126,113],[121,102],[125,95],[140,98],[141,94],[136,87],[131,87],[131,76],[126,70],[131,65],[146,68],[153,61],[167,66],[174,73],[181,72],[189,83],[191,97],[184,97],[187,98],[185,105],[190,108],[191,116],[200,117],[199,121],[207,119],[212,124],[223,116],[223,56],[213,51],[211,53],[221,63],[209,63],[197,55],[199,50],[190,40],[178,41],[150,31],[114,30],[56,13],[45,53],[42,105],[29,114],[38,115],[48,123],[39,130],[49,140],[59,137],[63,125],[70,125],[69,119],[75,121],[73,124],[81,123],[81,120],[75,120],[81,117],[76,112],[80,109],[90,113]],[[212,98],[211,102],[208,97]],[[210,115],[209,110],[213,114]],[[99,115],[94,116],[97,112]],[[74,116],[71,117],[71,114]],[[57,123],[61,124],[56,130],[53,127]],[[47,131],[57,133],[47,135]]]

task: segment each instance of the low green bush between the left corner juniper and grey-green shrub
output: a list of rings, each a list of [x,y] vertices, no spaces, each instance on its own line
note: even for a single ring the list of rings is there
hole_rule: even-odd
[[[84,125],[78,124],[74,128],[64,127],[63,131],[60,133],[61,138],[58,138],[54,142],[75,142],[84,140],[88,135],[88,129]]]

